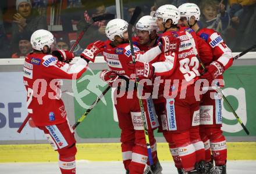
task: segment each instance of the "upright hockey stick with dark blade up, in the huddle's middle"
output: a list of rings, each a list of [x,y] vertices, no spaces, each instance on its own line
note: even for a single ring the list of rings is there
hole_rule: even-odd
[[[129,36],[130,49],[131,49],[131,57],[133,58],[133,64],[136,63],[136,60],[134,55],[133,41],[131,37],[132,37],[134,23],[136,22],[138,16],[140,16],[140,13],[141,13],[141,8],[137,6],[134,10],[133,16],[131,16],[131,20],[129,22],[128,29],[127,29],[128,36]],[[136,77],[135,80],[136,80],[136,87],[138,89],[138,85],[139,85],[138,78]],[[141,95],[139,93],[139,90],[137,90],[137,93],[138,93],[138,101],[140,103],[141,118],[143,120],[143,126],[144,126],[144,134],[145,134],[146,146],[148,151],[148,160],[150,161],[151,173],[153,173],[152,170],[155,168],[155,166],[152,159],[152,151],[150,146],[150,139],[148,137],[148,128],[147,128],[147,122],[145,117],[145,111],[144,111],[143,102],[141,100],[141,97],[140,97]]]

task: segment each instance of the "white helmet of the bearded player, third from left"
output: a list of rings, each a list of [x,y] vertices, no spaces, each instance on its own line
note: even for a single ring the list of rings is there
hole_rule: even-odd
[[[157,19],[152,16],[143,16],[138,20],[136,29],[148,31],[149,33],[154,30],[158,31]]]

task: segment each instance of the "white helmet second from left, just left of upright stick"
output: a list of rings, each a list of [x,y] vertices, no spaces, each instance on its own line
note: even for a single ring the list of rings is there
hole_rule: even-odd
[[[106,37],[114,41],[116,35],[123,38],[123,33],[127,31],[128,23],[123,19],[112,19],[106,24]]]

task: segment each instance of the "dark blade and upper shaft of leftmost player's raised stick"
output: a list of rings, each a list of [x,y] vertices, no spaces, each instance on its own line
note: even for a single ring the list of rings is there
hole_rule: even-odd
[[[101,20],[111,20],[111,19],[115,19],[115,14],[102,14],[99,16],[95,16],[92,19],[93,19],[93,23],[95,23],[97,21],[101,21]],[[84,27],[84,30],[80,32],[79,37],[76,39],[76,42],[74,42],[74,44],[70,48],[70,52],[73,52],[74,48],[76,48],[77,44],[83,37],[84,32],[86,32],[88,30],[88,28],[91,26],[91,24],[93,24],[93,23],[88,24],[86,27]]]

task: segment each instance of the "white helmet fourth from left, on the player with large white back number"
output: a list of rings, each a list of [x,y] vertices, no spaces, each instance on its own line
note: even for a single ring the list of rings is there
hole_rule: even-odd
[[[180,19],[180,12],[174,5],[162,5],[155,12],[155,17],[162,18],[163,23],[171,19],[173,24],[177,24]]]

